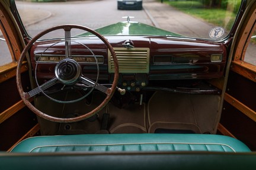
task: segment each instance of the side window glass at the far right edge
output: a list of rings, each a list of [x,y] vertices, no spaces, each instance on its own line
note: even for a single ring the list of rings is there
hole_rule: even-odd
[[[244,61],[256,66],[256,30],[254,30],[254,33],[252,34],[251,40],[248,44]]]

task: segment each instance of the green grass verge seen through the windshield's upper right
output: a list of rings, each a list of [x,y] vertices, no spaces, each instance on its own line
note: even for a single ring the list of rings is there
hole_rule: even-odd
[[[164,3],[173,6],[189,15],[203,19],[206,22],[231,30],[236,14],[220,8],[207,8],[198,1],[168,1]]]

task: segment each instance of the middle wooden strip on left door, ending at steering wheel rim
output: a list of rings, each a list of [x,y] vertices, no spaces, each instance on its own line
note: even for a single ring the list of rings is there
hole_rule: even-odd
[[[31,98],[31,101],[32,100],[33,99]],[[11,117],[15,113],[17,113],[19,110],[23,109],[23,107],[25,107],[25,104],[24,104],[23,100],[20,100],[19,102],[17,102],[16,104],[12,105],[11,107],[9,107],[4,112],[0,113],[0,123],[2,123],[5,120],[7,120],[9,117]]]

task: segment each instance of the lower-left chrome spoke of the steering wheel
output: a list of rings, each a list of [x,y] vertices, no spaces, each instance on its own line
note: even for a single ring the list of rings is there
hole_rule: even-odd
[[[52,87],[57,83],[57,78],[54,77],[53,79],[46,81],[45,83],[41,84],[40,86],[36,87],[35,89],[28,91],[27,93],[24,93],[24,97],[26,99],[29,99],[33,96],[36,96],[36,94],[39,94],[41,91],[48,89],[49,87]]]

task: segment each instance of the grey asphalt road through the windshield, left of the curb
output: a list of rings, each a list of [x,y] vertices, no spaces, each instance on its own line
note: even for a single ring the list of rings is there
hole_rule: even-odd
[[[132,16],[135,21],[152,25],[151,19],[143,10],[117,10],[116,0],[68,1],[68,2],[17,2],[21,18],[24,17],[28,34],[33,37],[37,32],[62,24],[84,25],[92,29],[124,21],[122,17]],[[60,9],[60,10],[56,10]],[[31,13],[31,14],[30,14]],[[31,24],[39,20],[36,24]],[[47,24],[45,24],[47,23]]]

